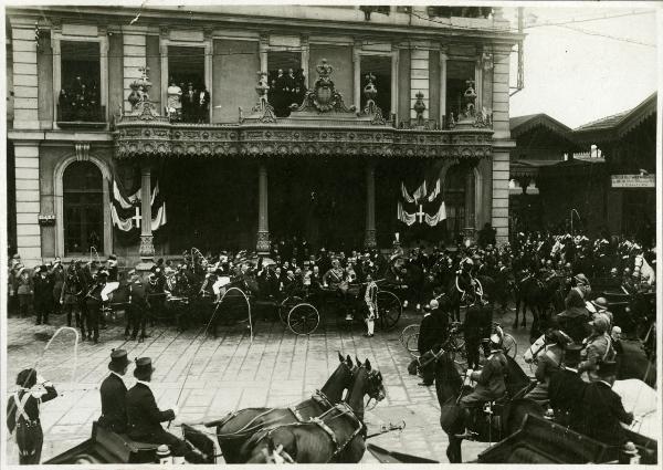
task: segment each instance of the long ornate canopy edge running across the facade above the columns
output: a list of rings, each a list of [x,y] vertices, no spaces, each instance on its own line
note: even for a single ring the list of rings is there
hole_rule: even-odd
[[[492,129],[410,130],[390,126],[201,125],[128,121],[115,132],[115,156],[145,157],[491,157]]]

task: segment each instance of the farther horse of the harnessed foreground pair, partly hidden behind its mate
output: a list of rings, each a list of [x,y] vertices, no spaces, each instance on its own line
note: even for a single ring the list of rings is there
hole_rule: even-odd
[[[245,408],[230,412],[220,420],[207,422],[217,427],[217,440],[227,463],[239,463],[249,439],[261,429],[275,424],[299,422],[322,415],[341,401],[343,393],[352,383],[356,367],[350,356],[338,353],[339,364],[319,391],[291,408]]]

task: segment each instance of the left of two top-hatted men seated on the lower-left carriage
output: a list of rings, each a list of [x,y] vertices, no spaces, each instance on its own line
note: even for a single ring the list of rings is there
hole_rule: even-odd
[[[113,349],[108,369],[110,374],[102,382],[102,416],[99,426],[113,432],[127,431],[127,387],[123,376],[127,373],[129,359],[125,349]]]

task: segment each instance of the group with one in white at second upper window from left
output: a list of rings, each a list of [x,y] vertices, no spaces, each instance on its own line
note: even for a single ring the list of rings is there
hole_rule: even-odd
[[[198,123],[210,122],[210,92],[204,84],[177,84],[170,79],[166,112],[171,122]]]

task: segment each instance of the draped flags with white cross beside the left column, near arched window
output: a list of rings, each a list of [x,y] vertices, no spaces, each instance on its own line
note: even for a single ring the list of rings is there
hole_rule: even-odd
[[[143,223],[143,215],[140,213],[140,188],[134,191],[130,196],[125,196],[117,180],[113,180],[113,200],[110,201],[110,217],[113,224],[124,232],[129,232],[133,229],[139,229]],[[166,201],[162,200],[159,192],[159,181],[155,184],[150,196],[151,206],[151,229],[152,231],[166,224]]]

